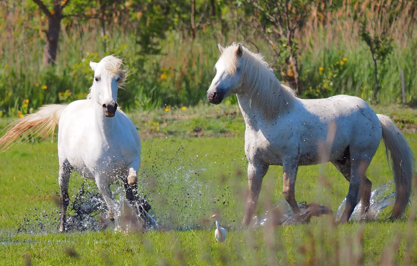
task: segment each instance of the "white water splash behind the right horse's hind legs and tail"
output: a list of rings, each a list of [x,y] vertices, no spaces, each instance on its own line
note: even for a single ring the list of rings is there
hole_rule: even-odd
[[[369,210],[367,212],[367,219],[368,220],[376,220],[378,218],[379,213],[384,208],[387,208],[388,206],[394,204],[395,201],[395,191],[392,190],[392,184],[394,182],[389,182],[387,184],[384,184],[378,188],[376,188],[371,193],[371,200],[369,204]],[[342,218],[342,213],[344,211],[344,206],[346,204],[346,198],[340,203],[339,208],[337,208],[337,214],[336,219],[337,221]],[[364,219],[363,216],[361,216],[362,208],[362,201],[360,201],[355,209],[353,210],[352,216],[350,216],[349,221],[360,221]]]

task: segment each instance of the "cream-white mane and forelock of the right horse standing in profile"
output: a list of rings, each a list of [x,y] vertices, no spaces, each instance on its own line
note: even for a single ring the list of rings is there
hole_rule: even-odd
[[[230,74],[236,73],[238,67],[237,48],[238,45],[233,43],[221,55],[225,59],[226,71]],[[243,46],[242,48],[239,91],[249,95],[251,106],[261,109],[266,118],[271,119],[277,113],[288,110],[297,99],[294,91],[281,85],[261,54],[252,53]]]

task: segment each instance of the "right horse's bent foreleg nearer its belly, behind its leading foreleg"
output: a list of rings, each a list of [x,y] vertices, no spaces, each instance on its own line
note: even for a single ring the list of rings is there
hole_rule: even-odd
[[[298,160],[294,158],[286,159],[282,163],[284,171],[284,186],[282,192],[286,202],[291,207],[294,214],[300,212],[300,207],[295,200],[295,180],[298,171]]]

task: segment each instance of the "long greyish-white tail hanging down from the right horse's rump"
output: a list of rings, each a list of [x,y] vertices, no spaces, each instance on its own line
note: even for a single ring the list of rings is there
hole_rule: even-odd
[[[404,135],[386,115],[377,115],[382,127],[388,163],[391,161],[395,183],[395,203],[390,220],[400,218],[407,207],[412,188],[414,154]],[[391,160],[389,160],[391,154]]]

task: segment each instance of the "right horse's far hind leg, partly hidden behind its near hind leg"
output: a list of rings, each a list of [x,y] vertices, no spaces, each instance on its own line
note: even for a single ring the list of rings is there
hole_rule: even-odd
[[[344,178],[350,182],[350,172],[351,172],[351,161],[343,160],[343,161],[333,161],[333,165],[336,169],[342,173]],[[360,192],[360,200],[362,201],[362,208],[361,208],[361,216],[364,213],[367,213],[369,209],[369,201],[371,199],[371,192],[372,192],[372,182],[364,175],[361,184],[361,192]]]

